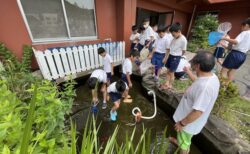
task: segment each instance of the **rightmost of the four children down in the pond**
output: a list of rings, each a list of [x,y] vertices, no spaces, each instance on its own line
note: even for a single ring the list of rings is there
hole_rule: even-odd
[[[132,88],[131,74],[132,74],[132,63],[138,61],[140,58],[140,53],[136,50],[130,53],[130,57],[126,58],[122,64],[122,81],[124,81],[129,88]],[[125,99],[124,102],[130,102]]]

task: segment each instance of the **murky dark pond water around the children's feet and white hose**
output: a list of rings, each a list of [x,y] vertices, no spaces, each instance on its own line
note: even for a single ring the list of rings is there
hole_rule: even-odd
[[[128,126],[126,124],[133,123],[133,115],[131,113],[134,107],[139,107],[144,116],[151,116],[154,114],[154,105],[153,99],[147,99],[141,92],[141,85],[138,81],[133,81],[133,88],[130,90],[130,95],[133,98],[133,102],[131,104],[121,103],[120,108],[118,109],[118,118],[116,122],[107,121],[107,117],[109,117],[109,112],[112,107],[112,103],[108,103],[108,108],[103,110],[101,109],[101,103],[99,103],[99,112],[98,119],[102,121],[101,128],[99,130],[99,139],[101,142],[107,141],[108,137],[113,134],[114,129],[117,125],[119,125],[119,132],[116,137],[118,142],[122,142],[125,139],[125,134],[131,134],[134,127]],[[101,100],[102,95],[99,95],[99,99]],[[91,102],[91,92],[88,89],[85,82],[82,83],[81,86],[77,88],[77,98],[75,100],[75,105],[73,107],[73,112],[80,109],[90,106]],[[85,110],[81,110],[77,114],[73,116],[73,119],[77,123],[77,130],[82,132],[84,128],[84,123],[89,114],[89,108]],[[168,128],[167,136],[175,136],[175,131],[173,128],[173,122],[171,118],[169,118],[160,108],[157,108],[157,115],[155,118],[151,120],[142,120],[141,123],[136,125],[136,133],[135,139],[139,140],[141,136],[141,132],[143,129],[143,125],[146,129],[151,129],[152,136],[160,136],[163,134],[165,127]],[[194,145],[191,146],[191,154],[200,154],[201,152]]]

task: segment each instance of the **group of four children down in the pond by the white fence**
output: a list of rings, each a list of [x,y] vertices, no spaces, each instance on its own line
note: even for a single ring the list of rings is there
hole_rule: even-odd
[[[92,92],[93,108],[96,108],[99,103],[98,100],[98,85],[101,84],[101,93],[103,94],[102,109],[107,108],[107,101],[111,100],[114,104],[110,111],[110,120],[116,121],[116,110],[120,106],[121,99],[124,102],[131,102],[131,97],[128,95],[129,88],[132,88],[131,74],[132,63],[139,59],[139,52],[132,52],[130,57],[126,58],[122,65],[121,79],[111,83],[114,74],[114,64],[110,55],[104,48],[98,48],[98,54],[103,57],[103,70],[94,70],[88,79],[88,86]]]

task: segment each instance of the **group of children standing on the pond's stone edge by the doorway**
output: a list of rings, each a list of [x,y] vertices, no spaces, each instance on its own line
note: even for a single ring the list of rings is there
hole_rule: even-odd
[[[156,82],[162,67],[166,66],[168,69],[166,83],[161,85],[161,88],[171,89],[175,77],[183,78],[185,74],[183,68],[190,66],[184,56],[187,49],[187,39],[181,33],[180,23],[167,27],[159,26],[156,28],[155,26],[153,29],[149,26],[149,19],[145,19],[143,25],[139,27],[140,34],[137,26],[132,26],[131,51],[141,52],[145,48],[149,50],[148,59],[151,59],[151,63],[154,65]]]

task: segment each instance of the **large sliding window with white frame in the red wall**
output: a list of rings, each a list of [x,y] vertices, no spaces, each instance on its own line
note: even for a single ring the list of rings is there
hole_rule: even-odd
[[[94,0],[19,0],[33,42],[96,39]]]

